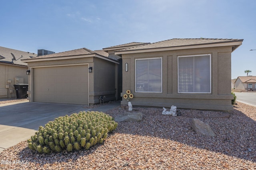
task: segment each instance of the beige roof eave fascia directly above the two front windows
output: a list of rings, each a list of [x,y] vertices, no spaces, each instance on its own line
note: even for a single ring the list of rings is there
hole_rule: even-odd
[[[159,48],[151,48],[151,49],[137,49],[137,50],[127,49],[127,50],[123,50],[123,51],[116,51],[115,55],[130,54],[130,53],[146,53],[146,52],[156,52],[156,51],[169,51],[169,50],[181,50],[181,49],[194,49],[194,48],[207,48],[207,47],[224,47],[224,46],[232,46],[232,52],[233,52],[240,45],[242,45],[242,40],[234,41],[234,42],[224,42],[224,43],[182,45],[182,46],[159,47]]]

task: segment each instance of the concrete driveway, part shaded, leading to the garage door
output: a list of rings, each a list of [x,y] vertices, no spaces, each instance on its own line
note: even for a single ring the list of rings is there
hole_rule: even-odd
[[[83,105],[38,102],[0,104],[0,152],[29,139],[54,118],[88,110]]]

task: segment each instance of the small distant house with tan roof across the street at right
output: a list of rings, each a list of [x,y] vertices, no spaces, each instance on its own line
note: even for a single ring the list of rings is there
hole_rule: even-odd
[[[234,83],[236,90],[256,90],[256,76],[238,76]]]

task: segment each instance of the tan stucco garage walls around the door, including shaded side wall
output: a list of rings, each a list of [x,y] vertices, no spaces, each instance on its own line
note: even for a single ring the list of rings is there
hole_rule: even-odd
[[[104,98],[104,102],[108,100],[115,100],[115,64],[96,57],[84,57],[79,59],[28,62],[28,69],[30,70],[28,80],[28,98],[30,102],[33,102],[33,80],[31,80],[31,78],[33,78],[34,68],[76,64],[88,64],[88,67],[92,67],[92,72],[88,73],[89,104],[99,103],[99,96],[102,95],[106,96],[106,98]]]

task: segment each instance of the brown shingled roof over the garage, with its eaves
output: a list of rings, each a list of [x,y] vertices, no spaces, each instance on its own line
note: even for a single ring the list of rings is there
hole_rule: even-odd
[[[75,49],[71,51],[64,51],[60,53],[54,53],[49,55],[42,55],[32,59],[25,59],[22,60],[23,62],[33,62],[33,61],[45,61],[45,60],[55,60],[55,59],[63,59],[63,57],[67,57],[67,59],[72,58],[81,58],[87,55],[88,57],[94,57],[98,55],[98,57],[102,57],[103,59],[114,61],[113,59],[108,58],[108,53],[103,50],[95,50],[92,51],[90,49],[82,48],[82,49]]]

